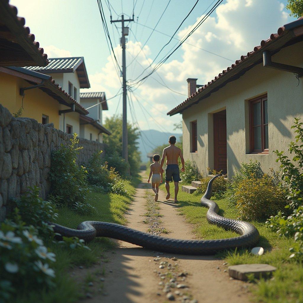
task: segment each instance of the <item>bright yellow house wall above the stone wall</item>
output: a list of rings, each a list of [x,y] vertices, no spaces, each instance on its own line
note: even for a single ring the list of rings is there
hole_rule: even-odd
[[[27,81],[0,72],[0,103],[8,108],[11,114],[17,112],[22,106],[22,96],[19,94],[19,90],[28,86],[31,84]],[[42,123],[42,115],[44,114],[49,117],[49,123],[54,123],[56,128],[59,127],[60,104],[41,89],[33,88],[25,91],[23,108],[23,117],[33,118]]]

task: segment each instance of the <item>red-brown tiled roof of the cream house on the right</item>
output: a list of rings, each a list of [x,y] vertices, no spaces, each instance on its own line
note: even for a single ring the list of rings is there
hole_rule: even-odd
[[[279,49],[288,46],[291,43],[302,41],[302,35],[303,18],[278,28],[277,34],[271,34],[268,39],[262,40],[260,45],[254,47],[253,51],[248,52],[247,55],[242,55],[240,59],[235,61],[235,64],[232,64],[227,69],[223,70],[215,79],[203,85],[198,89],[198,92],[189,96],[184,102],[169,111],[167,115],[172,116],[182,112],[185,108],[199,102],[202,98],[207,98],[211,92],[218,90],[227,82],[239,78],[256,64],[262,63],[263,52],[265,50],[274,54]]]

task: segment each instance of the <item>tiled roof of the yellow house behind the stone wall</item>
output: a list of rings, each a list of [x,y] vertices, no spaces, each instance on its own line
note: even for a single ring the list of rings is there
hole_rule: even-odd
[[[46,81],[44,81],[43,85],[41,87],[39,87],[42,91],[46,92],[48,95],[50,95],[52,98],[55,98],[62,104],[65,104],[65,105],[72,104],[72,103],[75,104],[76,112],[79,112],[80,114],[85,114],[85,115],[88,114],[88,111],[80,103],[75,101],[75,99],[73,99],[67,92],[65,92],[64,89],[62,89],[62,87],[59,86],[59,84],[55,82],[55,80],[52,78],[52,76],[47,76],[47,75],[44,75],[44,74],[41,74],[38,72],[29,71],[26,68],[22,68],[22,67],[9,66],[7,68],[2,67],[2,69],[0,67],[1,72],[9,72],[9,70],[13,70],[13,71],[30,76],[29,78],[24,78],[25,80],[27,80],[29,82],[34,82],[35,78],[46,80]],[[18,74],[15,74],[15,75],[18,76]],[[38,83],[36,83],[36,84],[38,84]]]

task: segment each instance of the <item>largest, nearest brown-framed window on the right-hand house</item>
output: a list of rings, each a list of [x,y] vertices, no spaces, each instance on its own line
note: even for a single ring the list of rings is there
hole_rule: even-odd
[[[267,95],[250,100],[250,151],[268,154]]]

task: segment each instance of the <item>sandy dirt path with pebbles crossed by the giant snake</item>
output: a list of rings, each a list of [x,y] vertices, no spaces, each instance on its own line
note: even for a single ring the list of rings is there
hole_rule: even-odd
[[[147,195],[146,188],[140,184],[137,189],[132,210],[126,216],[128,226],[170,238],[194,239],[191,225],[178,215],[174,203],[165,200],[165,193],[160,191],[158,203],[153,203],[151,190]],[[148,224],[144,216],[147,201],[151,212],[163,215],[151,218]],[[103,268],[105,281],[101,282],[102,291],[99,289],[88,302],[164,303],[168,293],[174,301],[184,303],[249,302],[246,283],[230,280],[223,261],[213,256],[163,254],[157,253],[156,247],[153,252],[122,241],[118,244],[118,249],[108,254],[108,263],[98,265]],[[182,283],[186,288],[176,288]]]

